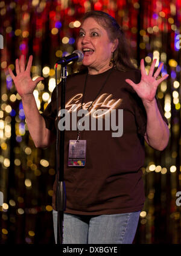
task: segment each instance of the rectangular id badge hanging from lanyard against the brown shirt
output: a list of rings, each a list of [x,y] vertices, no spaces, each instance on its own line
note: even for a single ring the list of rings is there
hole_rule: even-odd
[[[70,140],[68,153],[68,166],[85,166],[86,140]]]

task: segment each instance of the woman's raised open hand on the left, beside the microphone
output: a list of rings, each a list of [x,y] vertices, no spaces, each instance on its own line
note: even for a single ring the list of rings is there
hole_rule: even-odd
[[[28,59],[27,68],[25,69],[25,57],[21,56],[21,60],[19,63],[19,59],[16,59],[16,76],[13,74],[10,68],[8,71],[10,72],[11,78],[13,79],[14,85],[16,86],[16,90],[21,95],[21,97],[26,97],[28,95],[33,94],[34,89],[37,86],[37,83],[44,80],[43,77],[38,77],[36,80],[32,80],[30,77],[30,69],[33,61],[33,56],[30,55]]]

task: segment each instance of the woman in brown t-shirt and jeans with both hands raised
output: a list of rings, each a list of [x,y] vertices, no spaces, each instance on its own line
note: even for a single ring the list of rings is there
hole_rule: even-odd
[[[87,71],[68,76],[66,109],[71,114],[88,109],[91,115],[98,109],[109,113],[123,109],[123,133],[115,138],[105,127],[83,130],[80,139],[87,143],[86,164],[80,168],[68,166],[69,140],[77,139],[77,130],[66,130],[63,243],[132,243],[145,199],[141,171],[144,139],[157,150],[164,150],[168,144],[167,119],[155,98],[157,86],[168,75],[156,80],[163,65],[154,72],[156,60],[148,75],[141,60],[140,74],[130,62],[121,28],[101,11],[85,14],[77,49],[84,53],[82,63]],[[20,65],[16,60],[16,77],[11,69],[9,72],[22,97],[34,144],[47,147],[57,129],[56,91],[40,115],[33,90],[43,78],[31,80],[32,59],[30,56],[26,69],[23,56]],[[103,118],[106,120],[106,115]],[[54,211],[55,233],[56,220]]]

